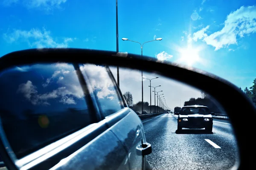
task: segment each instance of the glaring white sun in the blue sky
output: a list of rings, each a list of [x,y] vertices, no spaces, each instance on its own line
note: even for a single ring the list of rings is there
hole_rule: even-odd
[[[196,62],[201,62],[201,58],[199,56],[202,48],[192,47],[192,45],[188,45],[186,48],[178,48],[177,51],[180,53],[179,59],[177,62],[184,63],[188,66],[192,66]]]

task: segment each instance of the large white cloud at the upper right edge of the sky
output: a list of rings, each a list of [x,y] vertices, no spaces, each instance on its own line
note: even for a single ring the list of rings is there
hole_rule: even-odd
[[[230,44],[237,44],[237,38],[255,32],[256,7],[241,6],[227,16],[224,27],[220,31],[204,37],[203,41],[215,47],[216,51]]]

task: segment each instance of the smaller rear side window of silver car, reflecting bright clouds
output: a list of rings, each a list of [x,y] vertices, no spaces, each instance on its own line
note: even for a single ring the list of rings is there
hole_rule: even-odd
[[[90,93],[94,94],[103,117],[124,107],[116,85],[105,66],[84,64],[80,66],[80,70],[88,77]]]

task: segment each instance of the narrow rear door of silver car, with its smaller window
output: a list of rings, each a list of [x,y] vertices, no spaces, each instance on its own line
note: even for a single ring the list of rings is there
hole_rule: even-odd
[[[144,170],[146,158],[140,153],[145,142],[142,122],[127,107],[110,69],[99,65],[82,65],[80,68],[91,82],[91,92],[95,95],[103,119],[107,120],[109,130],[124,145],[131,170]],[[96,84],[99,77],[102,77],[101,82]]]

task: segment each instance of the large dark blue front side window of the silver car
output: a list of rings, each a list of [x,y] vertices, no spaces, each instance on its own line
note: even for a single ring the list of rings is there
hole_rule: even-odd
[[[73,65],[16,67],[0,75],[0,116],[17,158],[91,123]]]

